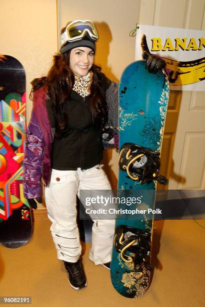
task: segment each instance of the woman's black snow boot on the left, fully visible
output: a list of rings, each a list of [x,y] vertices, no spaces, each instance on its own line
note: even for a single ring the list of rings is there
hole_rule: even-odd
[[[87,285],[86,277],[82,268],[81,261],[67,262],[63,261],[67,271],[68,281],[71,287],[75,290],[84,288]]]

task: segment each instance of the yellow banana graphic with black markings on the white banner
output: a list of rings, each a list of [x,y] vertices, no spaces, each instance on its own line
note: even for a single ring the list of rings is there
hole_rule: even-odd
[[[141,48],[142,51],[150,54],[145,35],[141,39]],[[162,59],[166,62],[166,68],[171,71],[168,74],[170,85],[192,84],[205,79],[205,58],[187,62],[180,62],[163,57]]]

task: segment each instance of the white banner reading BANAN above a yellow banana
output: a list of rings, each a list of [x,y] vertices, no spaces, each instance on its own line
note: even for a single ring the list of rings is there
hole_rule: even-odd
[[[141,60],[143,35],[145,49],[166,62],[170,89],[205,91],[205,31],[139,25],[135,60]]]

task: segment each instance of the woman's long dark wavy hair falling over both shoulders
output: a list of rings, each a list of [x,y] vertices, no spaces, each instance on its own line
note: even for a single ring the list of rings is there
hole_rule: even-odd
[[[45,86],[47,95],[50,97],[55,115],[55,134],[60,137],[67,125],[67,115],[64,112],[64,104],[70,95],[74,84],[74,75],[69,68],[70,51],[53,56],[53,64],[46,77],[34,79],[31,82],[32,93],[42,85]],[[107,108],[105,101],[105,88],[108,79],[101,72],[101,68],[92,65],[93,79],[90,88],[89,105],[92,112],[93,123],[98,127],[103,127],[107,121]]]

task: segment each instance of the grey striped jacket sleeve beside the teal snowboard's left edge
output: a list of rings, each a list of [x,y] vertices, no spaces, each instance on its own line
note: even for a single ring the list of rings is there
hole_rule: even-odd
[[[118,84],[111,81],[105,95],[108,120],[103,129],[102,143],[104,149],[118,148]]]

